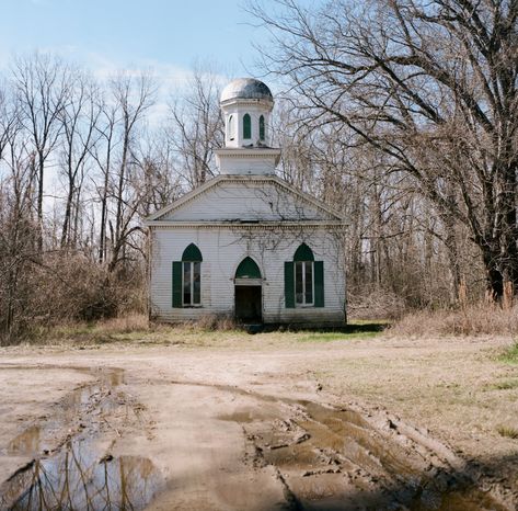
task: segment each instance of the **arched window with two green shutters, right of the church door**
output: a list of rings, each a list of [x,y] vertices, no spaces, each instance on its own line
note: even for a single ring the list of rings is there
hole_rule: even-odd
[[[285,262],[286,307],[324,306],[324,263],[301,243],[292,261]]]

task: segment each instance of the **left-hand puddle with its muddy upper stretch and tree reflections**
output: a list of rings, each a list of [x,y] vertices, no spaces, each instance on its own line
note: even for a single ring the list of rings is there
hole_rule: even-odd
[[[160,491],[163,478],[149,458],[110,454],[122,428],[140,420],[138,404],[118,388],[123,371],[76,370],[95,382],[10,442],[11,455],[32,459],[0,486],[1,510],[139,510]]]

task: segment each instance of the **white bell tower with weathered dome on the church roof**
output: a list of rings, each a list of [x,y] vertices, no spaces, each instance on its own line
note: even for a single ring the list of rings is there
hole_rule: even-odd
[[[222,174],[274,174],[280,149],[270,147],[274,98],[253,78],[231,81],[220,99],[225,118],[225,148],[216,151]]]

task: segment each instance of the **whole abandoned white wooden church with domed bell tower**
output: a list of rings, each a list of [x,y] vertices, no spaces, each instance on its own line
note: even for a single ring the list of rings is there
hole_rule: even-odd
[[[146,219],[151,318],[344,325],[344,219],[275,174],[273,106],[262,81],[229,83],[219,175]]]

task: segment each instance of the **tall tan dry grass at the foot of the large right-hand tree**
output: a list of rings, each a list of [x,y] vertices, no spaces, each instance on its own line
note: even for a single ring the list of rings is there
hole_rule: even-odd
[[[390,336],[517,336],[518,306],[502,309],[479,304],[459,310],[422,310],[413,313],[389,330]]]

